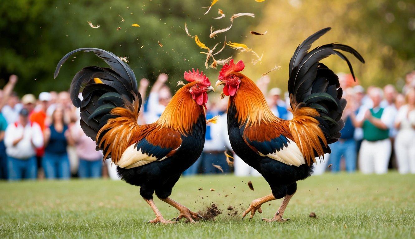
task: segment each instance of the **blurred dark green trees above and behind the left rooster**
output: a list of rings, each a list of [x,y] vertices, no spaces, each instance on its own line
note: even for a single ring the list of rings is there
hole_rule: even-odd
[[[112,51],[117,56],[129,56],[129,65],[139,80],[154,80],[159,73],[168,73],[174,88],[183,78],[183,72],[191,68],[204,69],[205,55],[189,32],[197,34],[206,46],[212,48],[222,42],[225,33],[210,39],[210,26],[215,29],[229,27],[229,17],[238,12],[255,12],[256,18],[240,17],[234,21],[232,35],[242,35],[248,24],[258,24],[261,7],[254,0],[233,4],[231,0],[217,2],[210,12],[203,15],[210,0],[16,0],[0,2],[0,87],[10,74],[19,76],[16,90],[38,94],[41,91],[67,90],[72,77],[84,66],[106,66],[92,53],[75,55],[65,63],[59,77],[53,79],[56,64],[64,54],[81,47],[95,47]],[[218,8],[226,17],[220,20]],[[124,21],[122,21],[124,20]],[[87,21],[91,21],[92,28]],[[132,24],[140,27],[132,27]],[[119,28],[119,29],[117,29]],[[159,45],[160,42],[163,47]],[[233,50],[222,54],[231,56]],[[217,70],[204,69],[215,77]],[[220,66],[219,66],[220,70]]]

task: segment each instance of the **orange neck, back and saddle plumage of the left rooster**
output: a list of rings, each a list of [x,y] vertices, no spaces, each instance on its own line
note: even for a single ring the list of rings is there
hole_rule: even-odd
[[[159,120],[151,124],[139,125],[137,123],[139,115],[137,96],[133,103],[125,100],[124,107],[112,109],[111,115],[118,117],[108,120],[97,134],[98,139],[105,132],[101,141],[98,142],[100,148],[104,149],[104,159],[111,155],[112,162],[117,164],[130,145],[137,143],[155,130],[171,129],[182,135],[191,134],[193,124],[201,114],[205,113],[202,106],[198,105],[189,94],[190,87],[195,84],[197,82],[188,83],[180,88],[166,106]],[[154,138],[150,140],[157,141]]]

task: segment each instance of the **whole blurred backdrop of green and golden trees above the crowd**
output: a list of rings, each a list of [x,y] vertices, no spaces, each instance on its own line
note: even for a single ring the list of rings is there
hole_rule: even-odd
[[[14,0],[0,1],[0,88],[11,74],[19,76],[15,91],[38,95],[42,91],[68,90],[73,75],[83,66],[105,66],[93,54],[71,58],[53,79],[56,64],[69,51],[95,47],[128,56],[136,78],[150,84],[160,73],[169,75],[168,85],[176,89],[183,72],[203,68],[215,81],[221,66],[206,69],[205,54],[189,34],[198,35],[212,49],[225,41],[246,44],[259,56],[261,64],[251,64],[256,56],[226,46],[215,59],[233,56],[247,62],[244,74],[253,80],[269,73],[270,86],[285,91],[288,62],[298,44],[312,33],[332,27],[316,44],[339,41],[354,47],[366,60],[349,57],[359,84],[383,87],[391,83],[398,91],[405,74],[415,66],[415,3],[409,0],[220,0],[204,15],[208,0]],[[221,19],[218,9],[226,15]],[[234,19],[232,28],[210,38],[214,30],[230,26],[233,14],[252,12],[255,17]],[[124,20],[124,21],[123,21]],[[100,25],[99,28],[90,27]],[[139,24],[139,27],[132,27]],[[264,35],[253,35],[250,31]],[[159,45],[159,43],[162,45]],[[347,64],[337,57],[323,61],[335,72],[349,73]],[[212,63],[211,61],[209,63]]]

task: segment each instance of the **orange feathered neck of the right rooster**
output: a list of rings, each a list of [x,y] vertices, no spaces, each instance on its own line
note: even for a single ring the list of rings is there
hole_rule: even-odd
[[[229,104],[236,108],[239,124],[247,122],[248,125],[252,125],[276,119],[261,90],[246,76],[241,78],[239,89],[229,98]]]

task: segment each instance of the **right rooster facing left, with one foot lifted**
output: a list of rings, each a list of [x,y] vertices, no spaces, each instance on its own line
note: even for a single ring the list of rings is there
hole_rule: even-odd
[[[273,115],[255,83],[239,73],[244,69],[242,61],[235,64],[232,59],[219,73],[216,87],[225,85],[223,94],[229,96],[227,124],[232,149],[262,174],[272,191],[253,200],[243,217],[250,212],[251,219],[256,211],[262,213],[263,203],[285,197],[272,219],[262,219],[285,221],[283,214],[297,190],[296,181],[310,176],[315,158],[324,160],[324,154],[330,153],[328,144],[340,137],[346,100],[342,99],[338,77],[319,61],[336,54],[347,62],[354,78],[351,63],[338,50],[353,54],[362,63],[364,59],[343,44],[327,44],[308,52],[311,44],[329,30],[308,37],[291,58],[288,93],[292,120]]]

